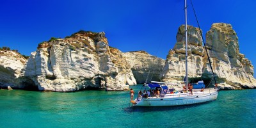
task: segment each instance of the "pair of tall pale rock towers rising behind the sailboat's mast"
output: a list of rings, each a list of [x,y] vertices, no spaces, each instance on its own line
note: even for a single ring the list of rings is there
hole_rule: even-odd
[[[184,26],[180,26],[176,36],[177,43],[169,51],[161,74],[163,81],[181,83],[184,79],[186,65],[184,33]],[[255,88],[253,65],[239,53],[238,38],[232,26],[224,23],[212,24],[206,39],[212,68],[221,88]],[[200,31],[193,26],[188,26],[188,77],[191,82],[203,79],[205,83],[209,83],[212,80]]]

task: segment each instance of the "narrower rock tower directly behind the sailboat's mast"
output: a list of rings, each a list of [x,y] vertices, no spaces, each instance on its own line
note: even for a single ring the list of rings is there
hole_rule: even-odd
[[[162,80],[166,82],[182,81],[186,75],[186,43],[185,26],[180,26],[177,36],[177,43],[170,49],[165,61]],[[204,49],[198,28],[188,26],[188,76],[201,77],[204,65]]]

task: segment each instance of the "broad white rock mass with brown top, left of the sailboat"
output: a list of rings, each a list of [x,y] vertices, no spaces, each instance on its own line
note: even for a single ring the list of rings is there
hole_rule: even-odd
[[[20,77],[40,91],[54,92],[128,90],[136,84],[122,52],[108,46],[105,33],[91,31],[38,45]]]

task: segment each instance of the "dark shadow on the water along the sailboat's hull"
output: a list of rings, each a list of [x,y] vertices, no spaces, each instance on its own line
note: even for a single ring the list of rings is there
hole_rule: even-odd
[[[212,101],[209,101],[212,102]],[[198,106],[202,106],[204,104],[209,104],[209,102],[203,102],[198,104],[188,104],[183,106],[161,106],[161,107],[142,107],[142,106],[131,106],[124,108],[126,113],[138,112],[138,113],[145,113],[145,112],[152,112],[152,111],[176,111],[181,109],[189,109],[195,108]]]

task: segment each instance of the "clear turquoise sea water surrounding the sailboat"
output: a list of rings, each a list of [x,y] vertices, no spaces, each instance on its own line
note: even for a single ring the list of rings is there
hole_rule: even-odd
[[[204,104],[132,108],[129,92],[0,90],[0,127],[256,127],[255,95],[221,91]]]

